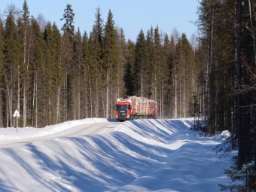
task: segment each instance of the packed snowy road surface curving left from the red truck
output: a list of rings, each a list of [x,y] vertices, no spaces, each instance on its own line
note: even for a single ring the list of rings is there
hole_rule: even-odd
[[[0,148],[12,148],[19,145],[32,144],[34,142],[42,142],[45,140],[61,139],[74,136],[92,136],[102,133],[110,133],[114,131],[114,128],[118,126],[118,122],[104,122],[104,123],[87,123],[72,127],[72,129],[63,130],[53,134],[47,134],[46,136],[28,136],[24,139],[14,139],[8,141],[0,141]],[[23,129],[19,129],[18,133],[15,133],[15,129],[11,134],[19,135]]]

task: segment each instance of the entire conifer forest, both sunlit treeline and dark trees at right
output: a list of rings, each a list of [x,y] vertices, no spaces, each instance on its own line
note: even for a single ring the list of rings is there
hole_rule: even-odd
[[[254,169],[252,175],[245,170],[243,187],[255,187],[253,0],[200,1],[197,44],[175,30],[161,33],[158,26],[141,30],[136,42],[127,40],[114,14],[109,11],[104,22],[100,8],[91,32],[75,31],[72,5],[59,16],[62,29],[30,15],[26,0],[22,11],[10,5],[6,14],[0,19],[1,127],[14,126],[16,109],[19,126],[42,127],[114,117],[117,98],[144,96],[157,101],[160,118],[200,117],[197,128],[208,135],[229,130],[228,145],[218,150],[237,150],[237,169]],[[237,172],[227,170],[231,177]]]

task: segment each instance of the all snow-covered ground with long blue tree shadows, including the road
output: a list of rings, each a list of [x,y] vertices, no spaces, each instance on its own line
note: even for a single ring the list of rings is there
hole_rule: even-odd
[[[0,129],[0,191],[219,191],[232,154],[190,119]]]

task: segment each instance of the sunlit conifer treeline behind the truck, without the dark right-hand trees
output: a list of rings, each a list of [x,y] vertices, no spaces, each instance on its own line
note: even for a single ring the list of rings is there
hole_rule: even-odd
[[[2,127],[14,126],[16,109],[19,126],[114,117],[116,99],[133,95],[156,100],[159,117],[187,117],[190,98],[200,97],[197,50],[184,34],[151,27],[126,41],[111,11],[103,23],[99,8],[89,35],[75,32],[72,5],[62,29],[30,16],[26,1],[21,13],[14,6],[7,13],[0,21]]]

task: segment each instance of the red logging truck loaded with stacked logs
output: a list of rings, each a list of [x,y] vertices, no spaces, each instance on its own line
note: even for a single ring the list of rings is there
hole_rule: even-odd
[[[137,117],[156,117],[157,102],[138,96],[127,99],[118,98],[115,105],[115,119],[117,121],[133,120]]]

